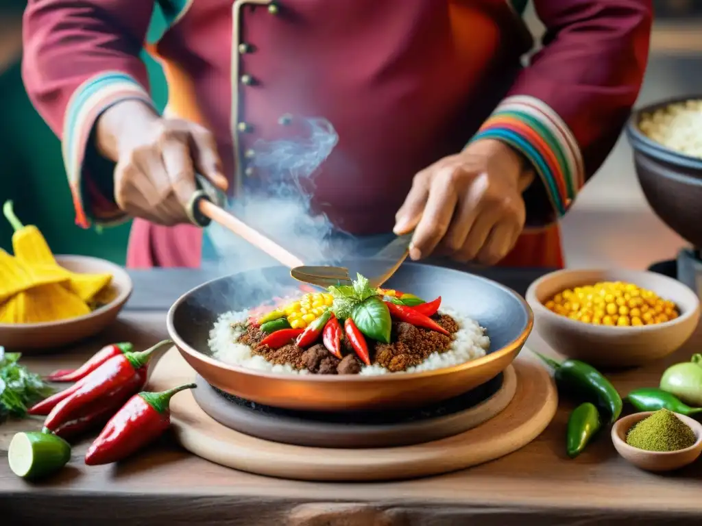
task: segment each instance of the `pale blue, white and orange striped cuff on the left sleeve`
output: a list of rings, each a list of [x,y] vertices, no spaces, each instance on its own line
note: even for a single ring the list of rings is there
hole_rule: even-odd
[[[88,191],[84,192],[81,180],[84,175],[86,147],[95,120],[112,104],[127,99],[143,100],[153,105],[149,94],[133,76],[123,72],[103,72],[82,83],[68,102],[63,124],[62,154],[76,210],[76,224],[81,227],[90,226],[86,211],[91,207],[86,205],[94,190],[88,184]],[[100,214],[100,222],[119,222],[121,215],[118,210],[104,210],[104,213]]]

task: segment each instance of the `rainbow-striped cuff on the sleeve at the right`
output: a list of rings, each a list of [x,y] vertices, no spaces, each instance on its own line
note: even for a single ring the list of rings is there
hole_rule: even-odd
[[[580,148],[548,104],[527,95],[501,102],[472,140],[496,139],[522,152],[534,166],[557,215],[566,213],[585,183]]]

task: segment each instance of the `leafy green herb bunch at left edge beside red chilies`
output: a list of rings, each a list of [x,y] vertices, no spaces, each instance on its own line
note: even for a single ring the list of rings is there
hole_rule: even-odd
[[[27,408],[53,393],[39,375],[20,365],[20,353],[6,353],[0,346],[0,422],[8,416],[27,416]]]

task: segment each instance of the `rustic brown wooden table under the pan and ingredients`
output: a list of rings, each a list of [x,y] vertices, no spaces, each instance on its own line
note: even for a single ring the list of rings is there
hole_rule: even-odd
[[[536,274],[535,274],[536,275]],[[498,278],[500,276],[497,276]],[[505,276],[502,276],[505,278]],[[58,355],[26,356],[37,372],[74,367],[102,343],[128,340],[147,347],[166,337],[165,309],[173,297],[206,279],[197,272],[135,274],[129,308],[99,339]],[[509,276],[506,280],[509,281]],[[523,288],[519,283],[513,287]],[[668,363],[686,360],[702,344],[698,330],[676,356],[611,375],[622,393],[654,386]],[[536,335],[533,349],[545,350]],[[169,437],[114,466],[86,468],[88,442],[69,466],[43,483],[13,476],[0,461],[0,524],[22,525],[610,525],[699,524],[702,463],[660,476],[618,457],[607,432],[578,459],[564,454],[569,406],[561,403],[548,429],[522,450],[444,476],[395,483],[329,484],[277,480],[233,471],[194,457]],[[16,431],[41,421],[0,426],[4,453]],[[359,452],[359,454],[363,454]]]

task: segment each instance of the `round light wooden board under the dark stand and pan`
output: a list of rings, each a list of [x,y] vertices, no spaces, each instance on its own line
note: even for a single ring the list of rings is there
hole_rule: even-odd
[[[496,417],[464,433],[404,447],[323,449],[269,442],[208,417],[185,391],[171,400],[171,422],[185,449],[209,461],[260,475],[296,480],[399,480],[438,475],[503,457],[534,440],[558,404],[547,370],[523,349],[513,363],[517,391]],[[176,349],[157,363],[150,389],[192,382],[195,373]]]

